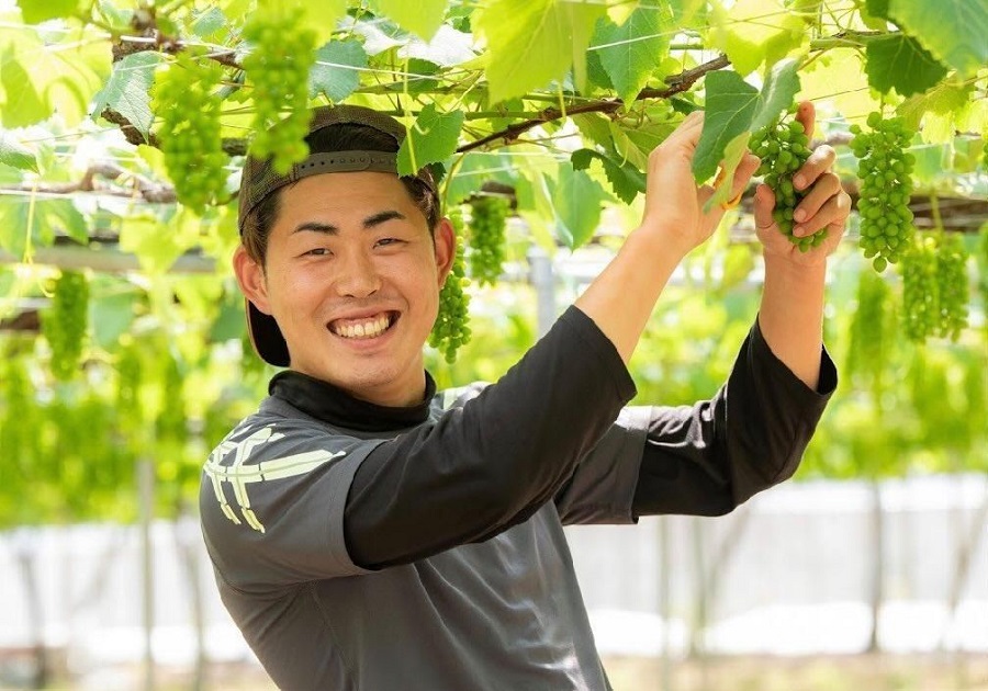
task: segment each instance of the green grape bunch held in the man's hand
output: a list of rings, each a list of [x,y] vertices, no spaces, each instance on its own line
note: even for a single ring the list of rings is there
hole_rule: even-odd
[[[794,104],[789,107],[788,114],[795,112]],[[827,238],[827,228],[820,228],[812,235],[804,237],[793,235],[793,228],[796,226],[793,214],[808,192],[808,190],[797,190],[793,185],[793,175],[802,167],[811,152],[809,136],[802,128],[802,123],[796,120],[786,121],[784,117],[776,118],[752,133],[749,146],[752,152],[762,159],[755,174],[764,175],[765,184],[775,193],[775,209],[772,212],[772,217],[778,225],[778,229],[801,252],[819,246]]]

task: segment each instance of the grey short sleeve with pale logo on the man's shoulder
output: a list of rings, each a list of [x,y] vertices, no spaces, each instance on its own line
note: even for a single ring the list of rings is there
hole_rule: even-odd
[[[249,590],[364,573],[347,553],[343,511],[379,443],[313,420],[248,418],[203,469],[201,523],[221,577]]]

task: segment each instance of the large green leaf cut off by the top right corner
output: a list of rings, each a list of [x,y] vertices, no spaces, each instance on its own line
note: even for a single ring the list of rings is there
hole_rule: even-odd
[[[972,0],[888,0],[903,31],[962,77],[988,65],[988,3]]]

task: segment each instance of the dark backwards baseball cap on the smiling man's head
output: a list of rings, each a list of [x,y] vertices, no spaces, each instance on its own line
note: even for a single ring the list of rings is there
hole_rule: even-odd
[[[405,139],[406,132],[403,124],[390,115],[360,105],[327,105],[313,110],[308,134],[333,125],[363,125],[377,129],[394,138],[395,151],[352,150],[313,154],[292,166],[291,170],[284,174],[274,170],[270,158],[257,159],[248,156],[244,162],[237,211],[240,237],[244,236],[244,224],[247,216],[258,204],[268,195],[302,178],[327,172],[378,171],[397,174],[396,151]],[[436,208],[439,208],[436,182],[429,168],[423,168],[414,177],[425,183],[433,194]],[[284,342],[281,329],[278,328],[278,322],[272,316],[266,315],[255,307],[249,299],[247,301],[247,328],[254,350],[262,360],[272,365],[288,366],[288,344]]]

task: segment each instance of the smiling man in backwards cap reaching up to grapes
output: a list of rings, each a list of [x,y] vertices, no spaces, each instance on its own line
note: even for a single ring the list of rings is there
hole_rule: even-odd
[[[755,196],[765,287],[726,386],[625,407],[652,307],[723,213],[691,171],[701,126],[652,152],[641,225],[549,333],[496,384],[446,394],[422,349],[456,239],[429,173],[394,172],[402,125],[318,109],[290,175],[247,162],[234,267],[257,351],[288,369],[210,456],[201,511],[280,688],[606,689],[562,525],[722,514],[793,474],[837,381],[823,280],[849,200],[829,147],[800,171],[821,247],[797,251]]]

